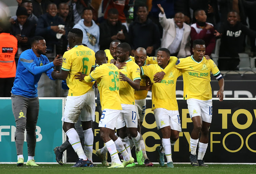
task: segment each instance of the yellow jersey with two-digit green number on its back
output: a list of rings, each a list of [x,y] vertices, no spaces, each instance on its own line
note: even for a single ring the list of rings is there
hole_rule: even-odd
[[[85,82],[97,80],[102,110],[122,110],[119,96],[119,70],[113,63],[104,63],[96,67],[89,76],[84,77],[84,80]]]

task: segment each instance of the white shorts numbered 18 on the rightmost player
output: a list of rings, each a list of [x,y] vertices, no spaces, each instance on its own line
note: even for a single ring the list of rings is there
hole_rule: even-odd
[[[187,99],[187,107],[190,118],[195,116],[201,116],[203,121],[209,123],[212,122],[212,99]]]

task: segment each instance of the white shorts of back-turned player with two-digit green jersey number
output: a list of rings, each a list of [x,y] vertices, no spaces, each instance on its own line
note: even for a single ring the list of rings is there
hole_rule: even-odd
[[[99,121],[99,127],[109,128],[114,130],[116,127],[116,120],[121,110],[104,109]]]

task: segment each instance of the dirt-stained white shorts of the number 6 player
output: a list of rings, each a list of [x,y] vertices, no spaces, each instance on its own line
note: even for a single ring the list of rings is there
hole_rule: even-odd
[[[79,115],[81,121],[95,121],[95,94],[92,89],[82,96],[67,96],[62,121],[76,123]]]

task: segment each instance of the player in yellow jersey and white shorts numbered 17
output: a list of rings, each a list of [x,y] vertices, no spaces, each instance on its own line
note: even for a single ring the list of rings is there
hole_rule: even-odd
[[[124,143],[128,153],[131,154],[130,143],[128,141],[126,127],[134,141],[136,147],[136,158],[138,164],[142,165],[144,162],[143,153],[140,145],[140,133],[138,132],[138,120],[136,106],[134,105],[134,89],[140,89],[140,68],[129,58],[131,47],[128,43],[121,43],[116,48],[117,61],[126,62],[126,66],[120,69],[120,88],[119,94],[123,110],[118,119],[116,130]],[[135,164],[134,164],[135,165]]]

